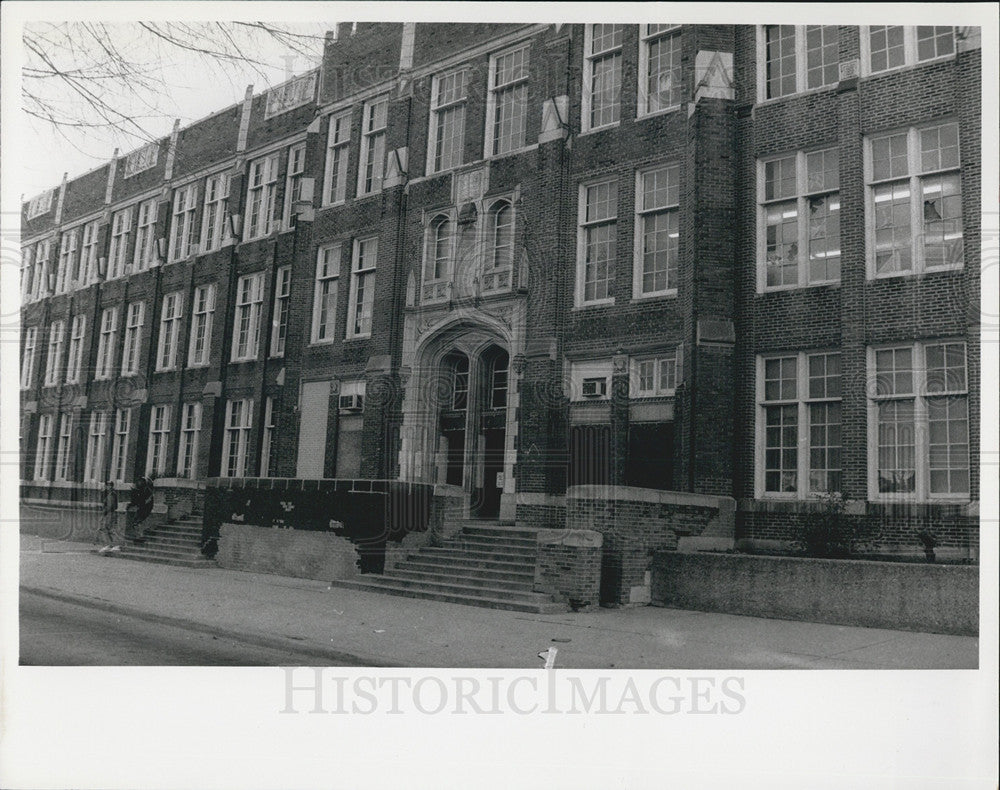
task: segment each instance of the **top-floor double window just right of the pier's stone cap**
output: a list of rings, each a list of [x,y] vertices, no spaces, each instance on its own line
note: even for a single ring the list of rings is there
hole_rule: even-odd
[[[833,25],[764,25],[757,73],[764,99],[836,85],[840,80],[839,30]]]

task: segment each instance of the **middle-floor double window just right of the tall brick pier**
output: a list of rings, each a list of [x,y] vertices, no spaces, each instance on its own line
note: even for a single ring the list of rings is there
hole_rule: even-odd
[[[840,282],[840,165],[836,148],[761,164],[759,288]]]

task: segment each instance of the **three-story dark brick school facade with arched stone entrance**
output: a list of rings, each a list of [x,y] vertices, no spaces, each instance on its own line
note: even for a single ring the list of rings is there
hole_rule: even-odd
[[[975,29],[357,24],[23,207],[22,496],[839,491],[978,543]]]

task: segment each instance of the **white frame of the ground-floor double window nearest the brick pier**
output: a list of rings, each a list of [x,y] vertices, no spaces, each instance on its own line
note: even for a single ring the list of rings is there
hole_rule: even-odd
[[[811,397],[809,390],[809,360],[812,357],[827,357],[827,356],[839,356],[840,357],[840,373],[837,374],[840,379],[840,395],[832,396],[824,394],[822,397]],[[795,360],[795,397],[794,398],[775,398],[771,400],[765,400],[765,389],[764,389],[764,371],[765,365],[768,361],[773,361],[777,359],[794,359]],[[843,486],[844,480],[844,466],[845,466],[845,447],[843,441],[843,429],[844,429],[844,411],[843,411],[843,401],[844,401],[844,365],[843,365],[843,354],[836,349],[810,349],[809,351],[782,351],[770,354],[760,354],[757,356],[756,365],[756,380],[755,380],[755,393],[756,393],[756,431],[755,431],[755,451],[754,451],[754,481],[755,481],[755,496],[757,499],[781,499],[781,500],[807,500],[810,498],[815,498],[822,494],[834,493],[823,491],[812,491],[811,490],[811,420],[809,407],[813,404],[841,404],[840,413],[840,426],[841,426],[841,444],[840,444],[840,474],[841,474],[841,486]],[[795,491],[766,491],[765,490],[765,472],[766,472],[766,430],[767,430],[767,407],[768,406],[795,406],[796,407],[796,490]],[[824,445],[826,446],[826,445]]]

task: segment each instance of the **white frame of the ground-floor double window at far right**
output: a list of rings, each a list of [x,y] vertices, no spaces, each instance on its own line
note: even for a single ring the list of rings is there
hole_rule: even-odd
[[[927,376],[927,348],[928,346],[942,346],[961,344],[965,356],[965,383],[963,387],[944,387],[941,390],[931,389]],[[880,381],[876,367],[876,355],[879,351],[888,350],[909,350],[912,362],[912,392],[894,393],[887,391],[884,381]],[[921,340],[904,343],[885,343],[876,346],[869,346],[867,349],[868,362],[868,499],[872,502],[968,502],[970,501],[972,488],[972,415],[969,409],[969,349],[963,338],[940,338],[933,340]],[[931,493],[930,490],[930,428],[928,424],[927,401],[939,397],[960,397],[966,401],[966,429],[967,444],[969,446],[970,457],[968,458],[969,491],[959,493]],[[914,430],[914,491],[910,492],[882,492],[879,491],[878,484],[878,430],[879,415],[878,406],[880,403],[891,401],[912,401],[913,402],[913,430]]]

